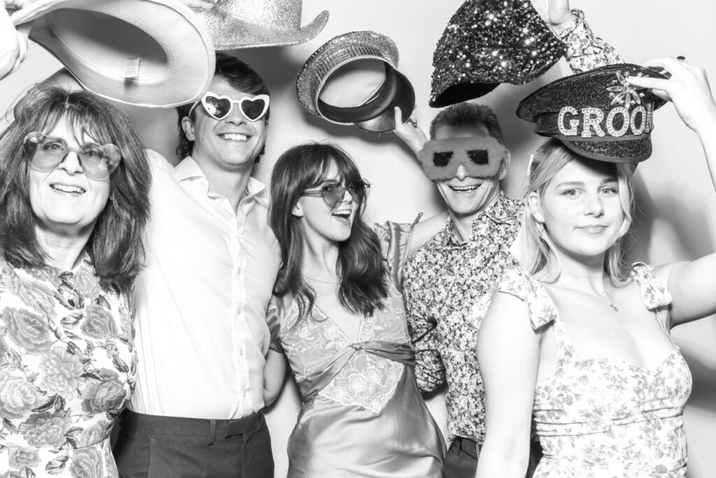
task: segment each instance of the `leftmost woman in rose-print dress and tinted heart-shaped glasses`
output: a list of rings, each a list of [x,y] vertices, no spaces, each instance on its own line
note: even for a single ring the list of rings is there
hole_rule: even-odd
[[[147,158],[88,92],[35,87],[0,133],[0,469],[116,477],[135,384],[128,301],[144,259]]]

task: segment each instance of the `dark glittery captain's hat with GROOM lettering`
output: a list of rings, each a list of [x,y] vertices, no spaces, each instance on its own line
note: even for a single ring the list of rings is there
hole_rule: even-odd
[[[644,161],[652,155],[652,113],[665,101],[630,85],[629,76],[664,77],[637,64],[611,64],[541,87],[520,102],[517,115],[585,158]]]

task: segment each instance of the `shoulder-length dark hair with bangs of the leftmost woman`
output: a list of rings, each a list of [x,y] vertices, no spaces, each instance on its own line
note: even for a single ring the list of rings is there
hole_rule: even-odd
[[[47,252],[37,242],[29,196],[27,133],[49,133],[60,121],[77,135],[120,148],[122,161],[110,176],[110,199],[95,222],[85,250],[102,287],[129,292],[144,264],[143,236],[149,220],[147,153],[125,113],[85,91],[37,85],[17,102],[14,120],[0,133],[0,249],[14,267],[42,267]]]

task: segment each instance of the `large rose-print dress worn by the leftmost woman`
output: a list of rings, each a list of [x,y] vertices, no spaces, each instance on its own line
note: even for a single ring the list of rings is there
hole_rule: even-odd
[[[85,259],[0,259],[0,477],[117,477],[110,431],[135,383],[133,314]]]

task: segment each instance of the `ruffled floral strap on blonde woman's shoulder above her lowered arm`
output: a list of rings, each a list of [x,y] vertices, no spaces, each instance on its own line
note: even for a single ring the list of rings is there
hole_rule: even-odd
[[[508,269],[500,279],[498,290],[525,302],[535,330],[558,319],[557,309],[545,288],[522,267]]]

